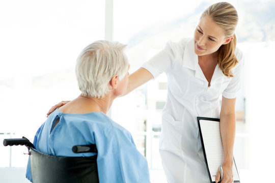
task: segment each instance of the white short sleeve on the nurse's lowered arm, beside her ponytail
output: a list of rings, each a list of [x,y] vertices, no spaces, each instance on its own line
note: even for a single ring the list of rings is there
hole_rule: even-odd
[[[223,96],[227,99],[236,98],[241,89],[243,55],[239,49],[236,49],[236,57],[238,59],[238,64],[232,70],[234,76],[223,92]]]

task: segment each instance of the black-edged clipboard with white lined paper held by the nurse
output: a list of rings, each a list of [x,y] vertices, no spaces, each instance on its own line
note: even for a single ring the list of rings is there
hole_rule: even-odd
[[[224,162],[224,147],[219,129],[219,118],[197,117],[197,120],[209,180],[211,183],[215,183],[218,167]],[[234,182],[240,182],[234,157],[233,160],[233,179]]]

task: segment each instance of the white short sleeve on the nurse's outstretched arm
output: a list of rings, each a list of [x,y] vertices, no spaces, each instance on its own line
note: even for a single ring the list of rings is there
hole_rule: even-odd
[[[176,56],[177,45],[170,41],[166,44],[166,47],[144,63],[142,68],[148,70],[156,78],[161,73],[171,70]]]

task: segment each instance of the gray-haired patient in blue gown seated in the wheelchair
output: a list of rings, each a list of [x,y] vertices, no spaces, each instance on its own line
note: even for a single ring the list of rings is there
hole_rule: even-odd
[[[34,145],[53,156],[74,154],[73,145],[96,144],[99,182],[150,182],[148,164],[136,149],[131,134],[106,113],[128,84],[126,45],[96,41],[77,58],[75,67],[80,96],[54,110],[38,129]],[[32,181],[28,164],[26,178]]]

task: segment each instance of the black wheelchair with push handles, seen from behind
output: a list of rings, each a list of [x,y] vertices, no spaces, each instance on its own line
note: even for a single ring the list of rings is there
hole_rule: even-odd
[[[4,146],[28,147],[33,183],[95,183],[98,180],[97,155],[92,157],[61,157],[43,154],[25,137],[4,139]],[[74,153],[97,153],[95,144],[75,145]]]

